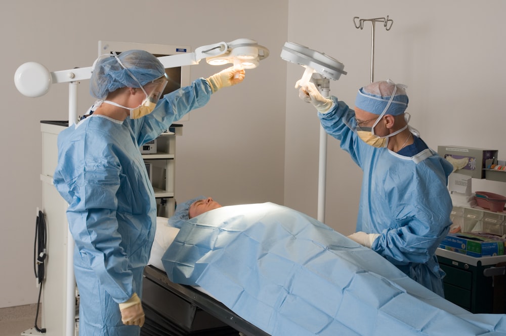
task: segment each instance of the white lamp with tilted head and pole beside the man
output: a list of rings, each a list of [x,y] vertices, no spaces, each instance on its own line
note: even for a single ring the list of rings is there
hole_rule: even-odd
[[[281,50],[281,58],[287,62],[296,63],[306,68],[299,85],[305,86],[313,78],[322,96],[328,97],[330,80],[338,80],[344,71],[344,64],[338,60],[309,49],[308,47],[286,42]],[[316,77],[315,74],[320,76]],[[320,125],[320,148],[318,162],[318,213],[317,219],[325,221],[325,180],[327,166],[327,134]]]

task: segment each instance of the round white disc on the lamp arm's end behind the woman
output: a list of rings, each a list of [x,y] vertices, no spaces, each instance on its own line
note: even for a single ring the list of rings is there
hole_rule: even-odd
[[[21,64],[14,74],[16,88],[27,97],[45,95],[52,83],[51,72],[44,65],[36,62]]]

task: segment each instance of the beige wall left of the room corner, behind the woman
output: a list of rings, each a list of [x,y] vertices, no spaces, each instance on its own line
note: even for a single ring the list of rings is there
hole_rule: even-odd
[[[247,70],[240,86],[216,93],[185,121],[177,144],[176,194],[179,200],[209,195],[223,204],[283,203],[286,68],[279,54],[288,3],[249,5],[236,0],[29,0],[2,6],[0,265],[9,275],[0,279],[0,308],[37,300],[32,255],[36,207],[42,203],[40,120],[66,120],[68,110],[66,84],[54,85],[40,98],[17,92],[14,73],[24,62],[39,62],[50,71],[91,66],[101,39],[192,48],[256,39],[271,56]],[[191,67],[191,75],[207,77],[222,68],[202,61]],[[92,103],[83,81],[79,111]]]

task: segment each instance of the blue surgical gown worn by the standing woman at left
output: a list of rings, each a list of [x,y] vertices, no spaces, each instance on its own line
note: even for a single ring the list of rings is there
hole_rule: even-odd
[[[58,136],[54,184],[69,203],[80,293],[79,335],[138,335],[121,322],[118,303],[142,295],[142,274],[156,228],[156,201],[139,146],[205,105],[200,78],[167,94],[154,111],[124,121],[91,115]]]

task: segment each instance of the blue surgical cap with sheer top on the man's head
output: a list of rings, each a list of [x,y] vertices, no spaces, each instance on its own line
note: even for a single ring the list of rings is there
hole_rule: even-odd
[[[399,115],[408,107],[408,96],[405,86],[395,84],[391,80],[376,81],[360,88],[355,100],[355,106],[361,110],[374,114],[382,114],[387,107],[390,97],[396,88],[394,99],[385,114]]]

